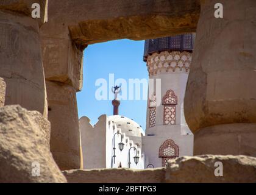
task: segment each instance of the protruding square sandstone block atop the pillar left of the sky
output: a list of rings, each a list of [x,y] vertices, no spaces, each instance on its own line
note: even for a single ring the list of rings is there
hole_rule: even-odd
[[[44,28],[40,32],[45,79],[69,84],[76,91],[82,90],[83,52],[77,49],[69,37],[49,38],[47,31]]]

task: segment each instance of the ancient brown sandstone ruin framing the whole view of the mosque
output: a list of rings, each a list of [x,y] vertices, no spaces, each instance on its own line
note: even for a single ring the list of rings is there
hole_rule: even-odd
[[[1,1],[0,182],[256,182],[255,13],[255,0]],[[88,44],[193,32],[184,110],[199,156],[166,169],[82,170],[76,92]]]

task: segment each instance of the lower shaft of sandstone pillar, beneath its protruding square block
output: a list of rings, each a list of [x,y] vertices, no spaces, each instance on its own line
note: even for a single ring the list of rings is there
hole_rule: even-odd
[[[80,168],[80,131],[76,90],[60,82],[46,82],[51,152],[62,170]]]

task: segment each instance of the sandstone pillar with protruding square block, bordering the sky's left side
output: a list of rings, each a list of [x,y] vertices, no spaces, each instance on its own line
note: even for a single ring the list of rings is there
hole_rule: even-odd
[[[51,122],[51,152],[60,169],[79,169],[82,163],[76,92],[82,89],[83,52],[71,41],[65,25],[55,27],[52,21],[41,28],[40,36]]]

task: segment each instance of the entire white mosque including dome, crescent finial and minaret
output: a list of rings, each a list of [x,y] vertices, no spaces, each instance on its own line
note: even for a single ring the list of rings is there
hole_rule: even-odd
[[[158,89],[149,82],[146,133],[119,115],[121,88],[113,87],[113,116],[100,116],[94,126],[86,116],[79,119],[84,169],[165,167],[171,158],[193,155],[193,133],[183,114],[193,44],[194,34],[145,41],[149,78],[161,80]]]

